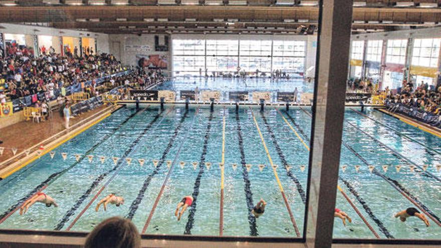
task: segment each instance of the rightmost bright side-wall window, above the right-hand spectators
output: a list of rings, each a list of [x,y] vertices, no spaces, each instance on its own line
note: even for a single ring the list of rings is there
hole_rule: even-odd
[[[441,39],[415,39],[413,41],[412,65],[437,67]]]

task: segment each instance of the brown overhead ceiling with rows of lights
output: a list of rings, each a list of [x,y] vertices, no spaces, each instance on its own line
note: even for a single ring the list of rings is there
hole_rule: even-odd
[[[326,1],[326,0],[325,0]],[[0,22],[108,34],[298,33],[316,26],[310,0],[0,0]],[[354,1],[353,31],[441,24],[441,0]]]

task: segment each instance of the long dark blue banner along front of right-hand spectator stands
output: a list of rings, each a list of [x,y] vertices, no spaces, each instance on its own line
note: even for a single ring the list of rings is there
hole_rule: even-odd
[[[420,110],[417,107],[407,106],[402,103],[392,103],[389,101],[386,101],[386,107],[388,110],[394,113],[411,117],[417,121],[424,122],[431,126],[439,126],[439,124],[441,124],[441,115],[435,115],[433,113]]]

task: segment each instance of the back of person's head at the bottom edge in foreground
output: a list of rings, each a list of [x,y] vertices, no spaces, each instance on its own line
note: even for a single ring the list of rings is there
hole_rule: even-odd
[[[85,248],[138,248],[141,236],[128,219],[111,217],[99,223],[86,238]]]

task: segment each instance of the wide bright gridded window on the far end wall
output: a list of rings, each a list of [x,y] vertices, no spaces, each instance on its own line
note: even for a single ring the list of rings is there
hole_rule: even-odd
[[[248,73],[282,70],[291,76],[305,72],[306,42],[291,40],[251,40],[213,38],[173,39],[173,75]]]

